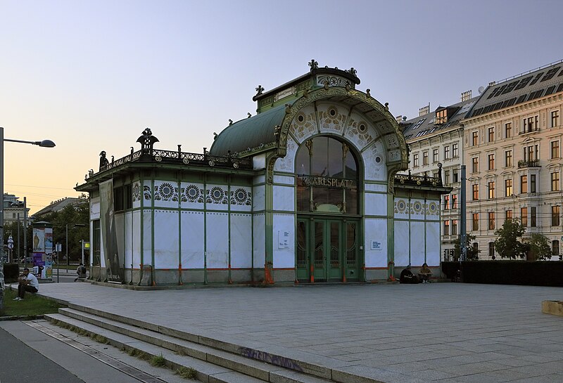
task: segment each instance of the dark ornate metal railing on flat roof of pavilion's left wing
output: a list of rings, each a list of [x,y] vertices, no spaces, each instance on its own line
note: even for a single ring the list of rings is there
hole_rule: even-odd
[[[248,158],[238,158],[230,154],[227,156],[210,155],[207,151],[201,153],[188,153],[172,150],[139,150],[132,152],[125,157],[110,162],[99,171],[113,169],[127,162],[139,162],[139,160],[149,160],[154,162],[182,163],[195,166],[221,167],[234,169],[252,169],[252,162]]]

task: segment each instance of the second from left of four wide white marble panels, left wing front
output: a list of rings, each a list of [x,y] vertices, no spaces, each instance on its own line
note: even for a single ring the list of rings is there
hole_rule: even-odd
[[[203,212],[182,212],[182,268],[203,268]]]

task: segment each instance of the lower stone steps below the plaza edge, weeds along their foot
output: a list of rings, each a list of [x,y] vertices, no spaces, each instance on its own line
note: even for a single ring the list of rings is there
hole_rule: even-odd
[[[61,318],[62,317],[62,318]],[[66,318],[68,319],[66,319]],[[191,342],[186,339],[179,339],[178,337],[172,335],[165,335],[162,332],[156,332],[153,330],[148,330],[146,328],[137,327],[136,325],[130,325],[127,323],[122,323],[119,320],[113,320],[109,318],[102,318],[93,313],[86,313],[84,311],[76,309],[60,309],[59,314],[46,316],[49,320],[60,320],[63,323],[68,323],[69,325],[74,325],[75,327],[84,328],[86,326],[80,325],[80,323],[87,324],[89,328],[84,328],[84,330],[98,333],[103,335],[108,339],[112,339],[114,342],[118,342],[120,345],[125,344],[121,337],[127,337],[129,339],[136,339],[138,342],[143,342],[144,344],[150,344],[158,349],[166,349],[168,351],[173,351],[175,353],[180,353],[190,358],[197,359],[206,363],[212,363],[213,365],[225,368],[231,372],[236,372],[238,374],[243,374],[246,376],[247,380],[242,380],[241,382],[251,382],[251,377],[255,379],[260,379],[261,382],[272,382],[272,383],[327,383],[331,382],[329,379],[322,379],[319,377],[311,376],[303,372],[298,372],[294,370],[289,370],[283,368],[279,365],[272,363],[265,363],[262,361],[257,361],[251,358],[245,358],[239,355],[239,353],[233,353],[229,351],[224,351],[222,349],[216,349],[213,346],[207,346],[204,344],[199,344],[196,342]],[[64,320],[63,320],[64,318]],[[72,320],[70,320],[72,319]],[[97,329],[104,330],[103,332],[108,332],[108,337],[105,334],[96,332]],[[163,330],[163,329],[160,329]],[[172,332],[168,329],[167,332]],[[125,338],[125,339],[127,339]],[[147,348],[146,345],[144,345]],[[150,347],[148,347],[150,349]],[[153,350],[154,352],[158,350]],[[237,348],[239,351],[239,348]],[[146,351],[148,352],[148,351]],[[253,351],[248,351],[253,352]],[[158,355],[158,352],[151,353],[152,355]],[[177,355],[177,354],[174,354]],[[291,363],[279,359],[275,362],[278,363]],[[194,367],[195,368],[195,367]],[[299,368],[299,366],[298,366]],[[197,369],[196,369],[197,370]],[[226,372],[222,372],[224,374]],[[210,374],[207,374],[210,375]],[[213,374],[213,379],[215,379],[216,374]],[[238,379],[235,373],[229,373],[228,375],[221,375],[224,379]]]

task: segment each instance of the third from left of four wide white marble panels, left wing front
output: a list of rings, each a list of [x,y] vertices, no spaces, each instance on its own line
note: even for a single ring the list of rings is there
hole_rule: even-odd
[[[205,241],[208,268],[229,266],[229,220],[227,213],[206,213]]]

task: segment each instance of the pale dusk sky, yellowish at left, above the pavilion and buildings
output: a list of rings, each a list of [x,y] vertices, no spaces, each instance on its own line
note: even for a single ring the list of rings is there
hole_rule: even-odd
[[[320,66],[355,67],[393,115],[563,59],[560,0],[0,0],[4,191],[31,213],[129,153],[203,152],[255,115],[266,90]]]

